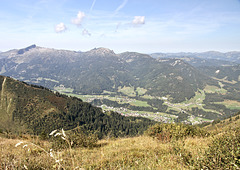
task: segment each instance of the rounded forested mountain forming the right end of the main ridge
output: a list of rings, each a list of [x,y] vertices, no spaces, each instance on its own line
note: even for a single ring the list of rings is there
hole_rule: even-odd
[[[169,95],[172,101],[181,102],[207,84],[217,84],[183,60],[154,59],[129,52],[119,56],[127,62],[129,74],[135,77],[134,86],[148,89],[147,94],[152,96]]]

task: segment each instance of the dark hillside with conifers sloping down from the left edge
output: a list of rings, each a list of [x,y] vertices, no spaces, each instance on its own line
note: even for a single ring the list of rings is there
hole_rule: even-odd
[[[0,129],[6,133],[48,134],[79,127],[99,138],[134,136],[154,124],[146,118],[103,113],[81,99],[4,76],[0,76],[0,118]]]

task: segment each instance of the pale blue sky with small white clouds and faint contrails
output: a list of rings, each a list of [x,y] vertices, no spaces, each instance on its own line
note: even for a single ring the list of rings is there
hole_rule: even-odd
[[[0,0],[0,51],[240,51],[240,0]]]

